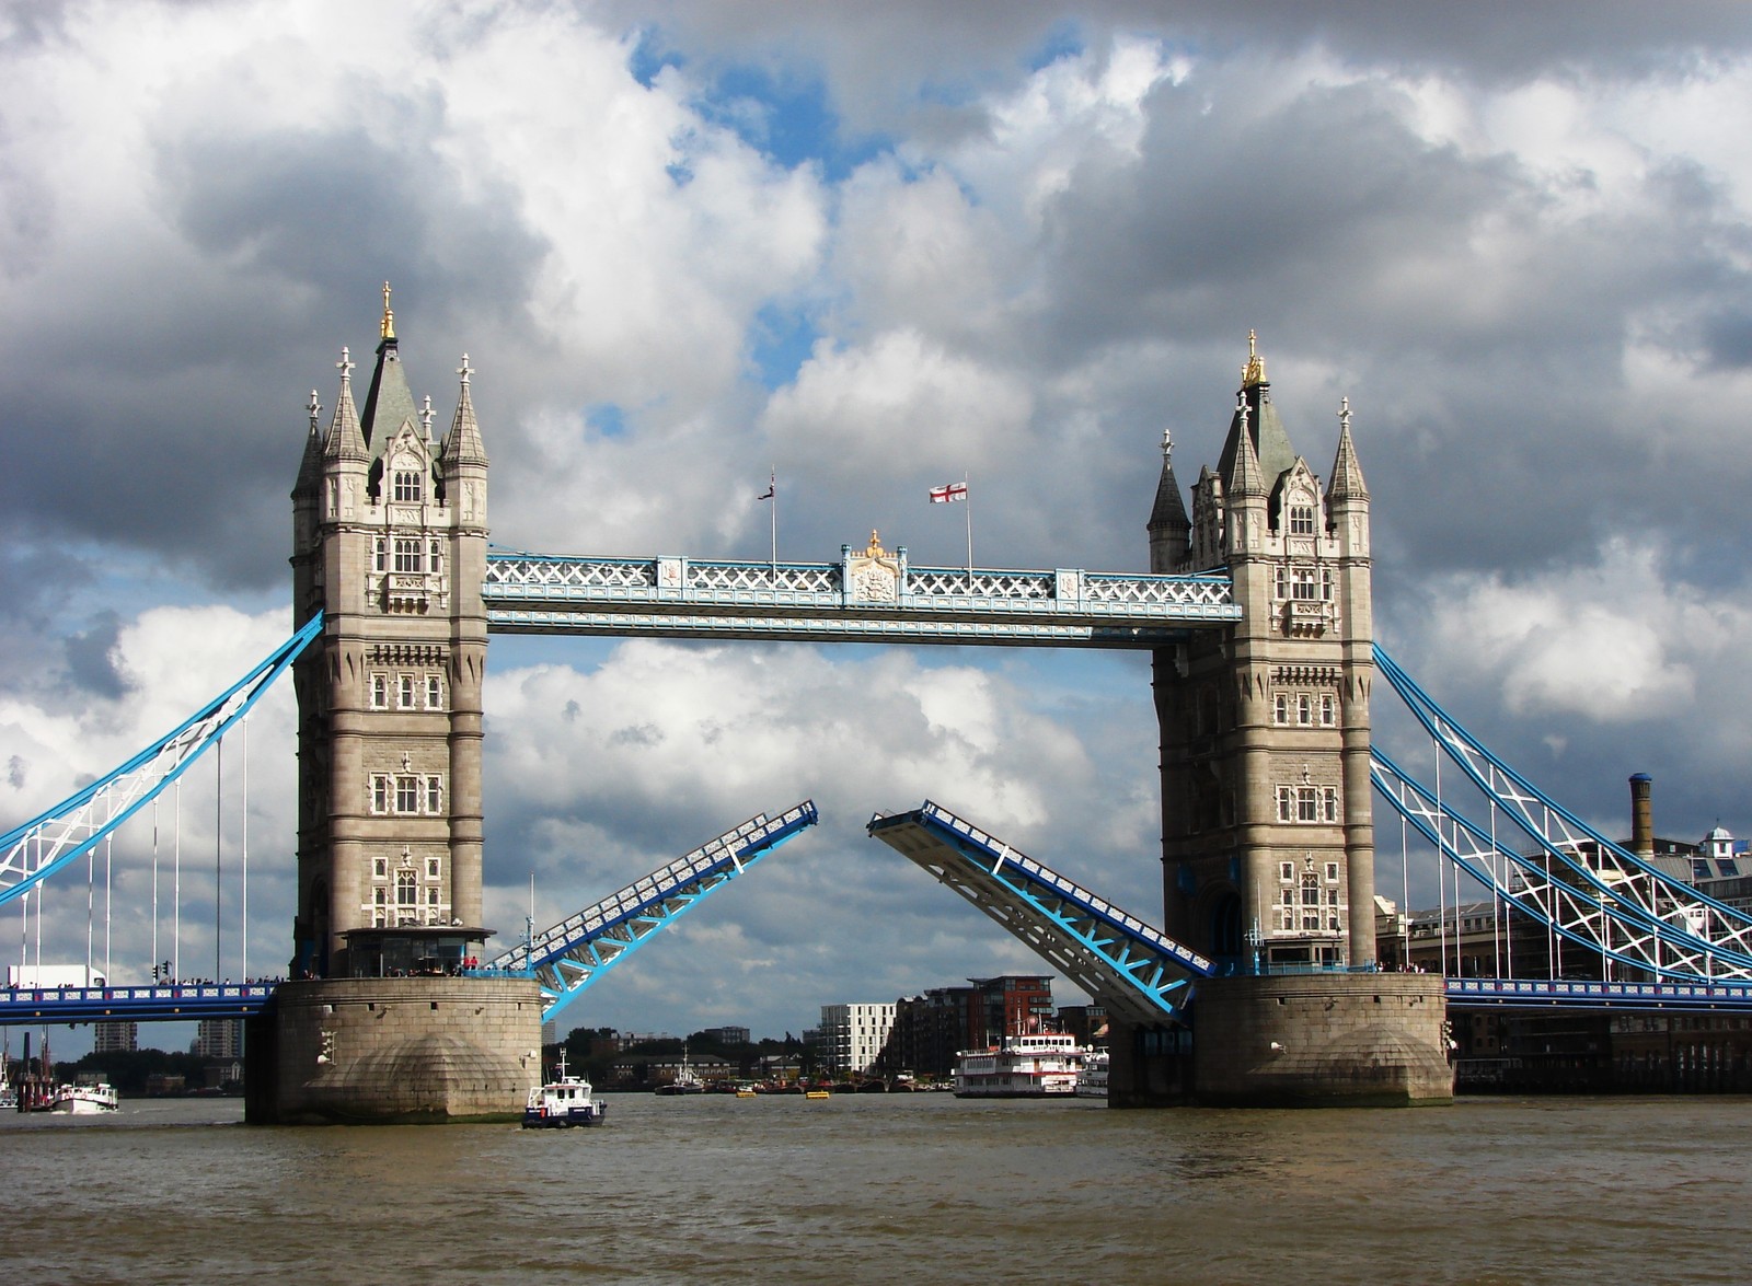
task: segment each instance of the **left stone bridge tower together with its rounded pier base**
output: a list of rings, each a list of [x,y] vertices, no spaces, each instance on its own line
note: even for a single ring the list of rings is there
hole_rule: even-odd
[[[433,438],[389,286],[363,413],[342,350],[293,489],[298,915],[258,1118],[450,1120],[520,1111],[540,1074],[533,979],[463,976],[484,955],[482,680],[487,452],[463,357]],[[258,1060],[259,1065],[259,1060]],[[256,1069],[252,1067],[252,1072]]]

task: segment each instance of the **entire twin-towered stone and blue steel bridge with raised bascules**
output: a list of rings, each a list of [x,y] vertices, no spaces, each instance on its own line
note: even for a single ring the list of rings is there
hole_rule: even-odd
[[[293,489],[293,639],[175,732],[0,837],[0,904],[28,899],[289,668],[293,979],[26,986],[0,993],[0,1023],[256,1013],[252,1120],[515,1111],[540,1076],[545,1016],[816,813],[804,801],[757,815],[489,951],[491,632],[1148,650],[1162,732],[1160,927],[941,804],[869,823],[1107,1006],[1116,1102],[1440,1102],[1452,1093],[1449,1002],[1752,1011],[1752,920],[1545,799],[1374,643],[1370,498],[1349,405],[1332,470],[1316,475],[1289,443],[1251,336],[1219,461],[1200,470],[1190,512],[1163,440],[1142,575],[913,568],[876,533],[830,562],[498,550],[468,359],[436,438],[431,399],[415,405],[403,373],[385,287],[363,412],[347,350],[338,370],[328,424],[312,394]],[[1452,790],[1419,785],[1372,746],[1377,676],[1459,764],[1489,829],[1463,816]],[[1512,915],[1598,951],[1605,976],[1381,972],[1377,795]],[[1498,811],[1515,820],[1522,851],[1498,843]]]

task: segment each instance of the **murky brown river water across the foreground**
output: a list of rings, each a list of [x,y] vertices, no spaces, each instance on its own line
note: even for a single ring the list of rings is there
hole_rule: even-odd
[[[596,1130],[0,1118],[16,1282],[1745,1282],[1752,1100],[606,1095]]]

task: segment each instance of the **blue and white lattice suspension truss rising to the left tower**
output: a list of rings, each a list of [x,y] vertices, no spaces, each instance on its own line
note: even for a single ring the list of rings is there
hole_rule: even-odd
[[[277,680],[322,631],[322,613],[270,652],[244,678],[201,706],[187,722],[84,790],[0,836],[0,906],[84,857],[116,827],[158,799]]]

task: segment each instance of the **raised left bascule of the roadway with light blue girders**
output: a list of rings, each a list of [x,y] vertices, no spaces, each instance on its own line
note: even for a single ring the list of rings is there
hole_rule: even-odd
[[[477,972],[534,974],[545,1000],[541,1020],[547,1021],[650,941],[652,934],[808,830],[818,816],[811,799],[794,804],[780,816],[757,813],[618,894],[561,920],[533,941],[501,951]]]

